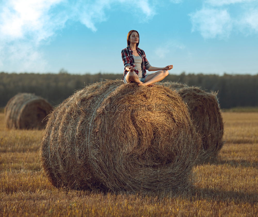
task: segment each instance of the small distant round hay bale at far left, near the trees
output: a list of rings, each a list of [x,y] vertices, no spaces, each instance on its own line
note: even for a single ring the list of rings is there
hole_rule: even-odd
[[[40,96],[18,93],[5,106],[5,126],[9,129],[43,129],[52,106]]]

